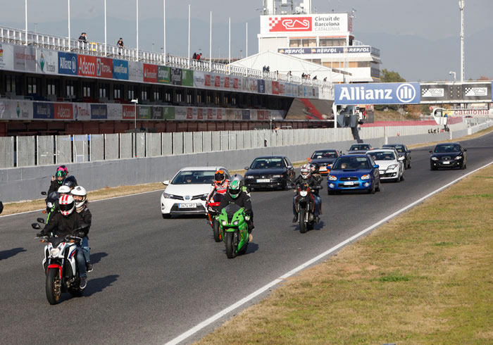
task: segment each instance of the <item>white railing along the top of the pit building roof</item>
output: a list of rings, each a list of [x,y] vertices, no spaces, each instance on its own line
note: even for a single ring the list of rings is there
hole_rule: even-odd
[[[194,60],[179,56],[164,56],[151,51],[137,50],[134,48],[118,47],[100,42],[83,42],[79,39],[68,39],[55,35],[39,34],[37,32],[26,32],[25,30],[13,29],[11,27],[0,27],[0,42],[36,46],[42,49],[56,51],[71,51],[78,54],[118,58],[128,61],[142,61],[156,65],[168,65],[177,68],[190,68],[192,70],[211,71],[244,77],[254,77],[264,80],[279,80],[293,84],[310,85],[320,88],[321,99],[333,99],[332,84],[323,80],[310,80],[291,75],[281,75],[275,72],[262,72],[251,68],[243,68],[223,63],[215,63],[206,60]]]

